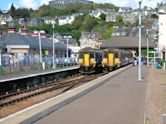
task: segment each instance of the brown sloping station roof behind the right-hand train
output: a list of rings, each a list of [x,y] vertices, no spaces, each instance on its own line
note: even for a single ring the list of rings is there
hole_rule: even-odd
[[[142,37],[142,48],[147,47],[146,38]],[[149,48],[154,48],[155,44],[149,42]],[[112,37],[105,41],[101,48],[138,48],[138,37]]]

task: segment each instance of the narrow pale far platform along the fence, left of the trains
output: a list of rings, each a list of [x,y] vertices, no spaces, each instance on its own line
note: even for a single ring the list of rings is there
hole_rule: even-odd
[[[38,75],[44,75],[49,73],[56,73],[66,70],[72,70],[72,69],[78,69],[79,66],[69,66],[69,67],[63,67],[63,68],[55,68],[55,69],[47,69],[47,70],[36,70],[36,71],[29,71],[29,72],[20,72],[20,73],[14,73],[14,74],[7,74],[7,75],[1,75],[0,76],[0,83],[6,82],[6,81],[12,81],[12,80],[18,80],[28,77],[35,77]]]

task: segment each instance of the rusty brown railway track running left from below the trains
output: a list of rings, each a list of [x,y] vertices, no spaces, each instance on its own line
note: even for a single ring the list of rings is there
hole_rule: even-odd
[[[94,80],[100,77],[103,74],[95,74],[95,75],[80,75],[78,77],[67,78],[64,80],[56,81],[50,84],[43,84],[38,87],[26,89],[23,91],[9,93],[6,95],[0,96],[0,108],[7,107],[13,104],[17,104],[21,101],[26,101],[35,96],[39,96],[48,92],[55,91],[57,89],[62,89],[62,93],[66,92],[72,88],[75,88],[79,85],[87,83],[91,80]]]

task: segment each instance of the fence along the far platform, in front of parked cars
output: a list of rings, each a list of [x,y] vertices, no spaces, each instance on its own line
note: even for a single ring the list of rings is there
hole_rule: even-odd
[[[52,56],[43,56],[42,61],[45,63],[45,69],[51,69],[53,65]],[[63,67],[66,65],[75,65],[76,61],[69,58],[70,64],[66,62],[65,58],[55,58],[56,67]],[[10,74],[17,72],[35,71],[42,69],[39,55],[22,55],[16,57],[10,54],[3,54],[1,57],[2,73]]]

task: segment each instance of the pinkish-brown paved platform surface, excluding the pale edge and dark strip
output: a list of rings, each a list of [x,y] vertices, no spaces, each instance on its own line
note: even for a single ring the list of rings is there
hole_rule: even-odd
[[[35,124],[143,124],[149,69],[120,73],[102,86],[37,120]]]

